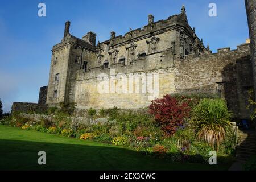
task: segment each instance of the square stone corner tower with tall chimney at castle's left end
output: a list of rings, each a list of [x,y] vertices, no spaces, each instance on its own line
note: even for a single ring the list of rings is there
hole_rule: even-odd
[[[71,85],[71,77],[73,69],[77,70],[80,68],[80,64],[71,63],[72,50],[75,47],[75,43],[69,34],[70,22],[65,23],[64,37],[61,43],[53,46],[52,48],[52,59],[51,69],[49,74],[48,92],[46,103],[51,106],[55,106],[60,102],[69,101],[69,89]]]

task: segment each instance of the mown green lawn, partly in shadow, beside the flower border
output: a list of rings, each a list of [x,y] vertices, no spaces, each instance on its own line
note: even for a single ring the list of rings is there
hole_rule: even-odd
[[[38,151],[46,151],[46,165]],[[98,142],[0,125],[0,170],[226,170],[229,165],[175,163]]]

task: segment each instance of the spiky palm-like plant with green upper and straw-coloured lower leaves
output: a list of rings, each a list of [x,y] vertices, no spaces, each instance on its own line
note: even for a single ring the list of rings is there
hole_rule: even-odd
[[[191,126],[199,139],[218,150],[225,134],[231,129],[231,117],[232,113],[224,100],[203,99],[193,109]]]

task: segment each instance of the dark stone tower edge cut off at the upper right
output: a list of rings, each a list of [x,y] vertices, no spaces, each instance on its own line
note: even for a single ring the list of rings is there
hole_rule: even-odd
[[[254,90],[256,90],[256,1],[245,0],[245,7],[246,7],[249,34],[250,34],[250,48],[251,48],[251,61],[253,65]],[[256,98],[256,92],[254,93]]]

